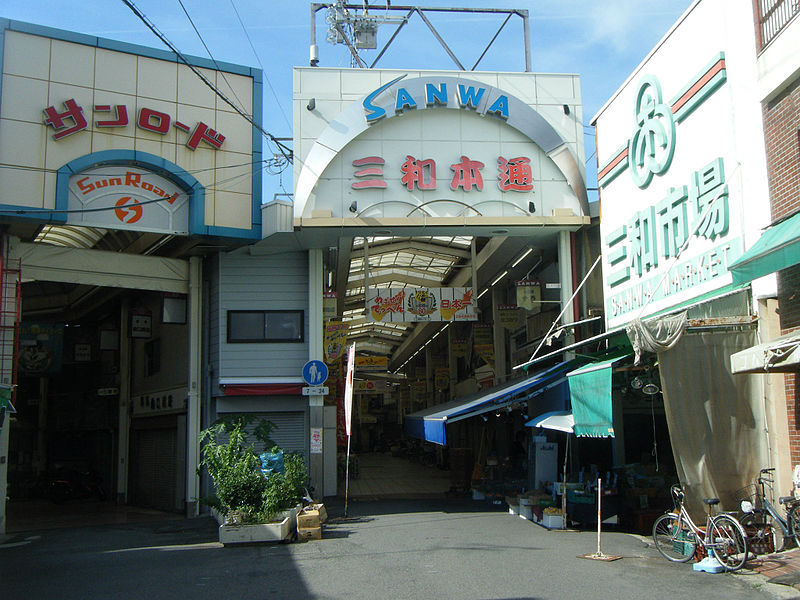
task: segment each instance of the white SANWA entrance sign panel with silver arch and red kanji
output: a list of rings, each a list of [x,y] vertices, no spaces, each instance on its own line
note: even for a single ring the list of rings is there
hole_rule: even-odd
[[[300,96],[328,85],[319,71],[299,73]],[[323,131],[323,115],[299,114],[296,150],[304,164],[296,172],[295,216],[519,219],[550,216],[555,208],[588,214],[583,164],[573,154],[582,152],[583,137],[550,122],[527,93],[537,89],[530,74],[484,74],[484,81],[445,72],[380,74],[387,83],[378,88],[374,76],[342,77],[332,90],[341,111],[324,115]],[[544,84],[549,76],[539,77]],[[578,104],[578,87],[569,89],[564,98]]]

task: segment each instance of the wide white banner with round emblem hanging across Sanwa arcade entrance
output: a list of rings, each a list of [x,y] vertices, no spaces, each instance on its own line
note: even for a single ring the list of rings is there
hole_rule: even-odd
[[[367,320],[384,323],[477,321],[472,288],[367,290]]]

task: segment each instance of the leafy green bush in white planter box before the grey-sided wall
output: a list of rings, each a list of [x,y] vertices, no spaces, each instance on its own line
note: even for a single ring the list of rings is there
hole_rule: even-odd
[[[248,439],[249,415],[220,419],[200,434],[202,460],[214,482],[216,496],[203,499],[220,521],[223,543],[281,541],[296,528],[298,505],[305,494],[308,472],[297,454],[283,454],[272,442],[274,425],[259,420],[253,429],[259,455]],[[281,457],[280,468],[263,468],[262,457]]]

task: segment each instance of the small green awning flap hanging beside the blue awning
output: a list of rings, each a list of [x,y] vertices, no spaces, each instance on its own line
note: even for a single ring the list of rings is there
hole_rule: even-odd
[[[617,355],[567,374],[575,435],[578,437],[614,437],[612,367],[629,356],[629,353]]]

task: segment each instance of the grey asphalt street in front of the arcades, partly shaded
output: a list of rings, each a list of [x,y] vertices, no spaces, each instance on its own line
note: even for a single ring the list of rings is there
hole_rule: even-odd
[[[549,532],[469,500],[352,503],[348,518],[330,512],[323,540],[295,544],[222,547],[210,518],[25,532],[0,545],[0,597],[796,597],[758,575],[668,563],[628,534],[603,534],[603,552],[621,560],[580,559],[596,550],[595,533]]]

